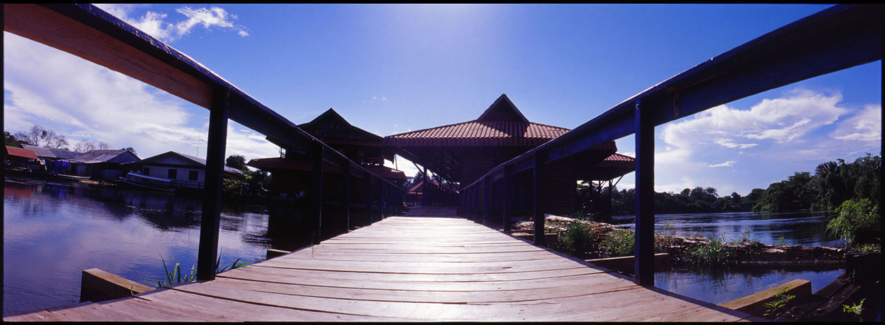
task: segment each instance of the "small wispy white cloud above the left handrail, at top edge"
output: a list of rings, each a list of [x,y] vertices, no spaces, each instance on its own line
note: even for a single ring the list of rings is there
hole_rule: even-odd
[[[249,36],[245,27],[235,25],[232,19],[236,19],[235,15],[227,13],[222,8],[190,8],[181,7],[175,11],[184,15],[187,19],[179,22],[167,22],[168,17],[165,13],[146,11],[142,17],[129,17],[139,5],[134,4],[96,4],[99,8],[113,16],[123,19],[129,25],[141,29],[142,32],[150,34],[163,42],[174,42],[181,37],[189,34],[195,26],[203,26],[207,30],[213,27],[236,30],[237,34],[242,37]]]

